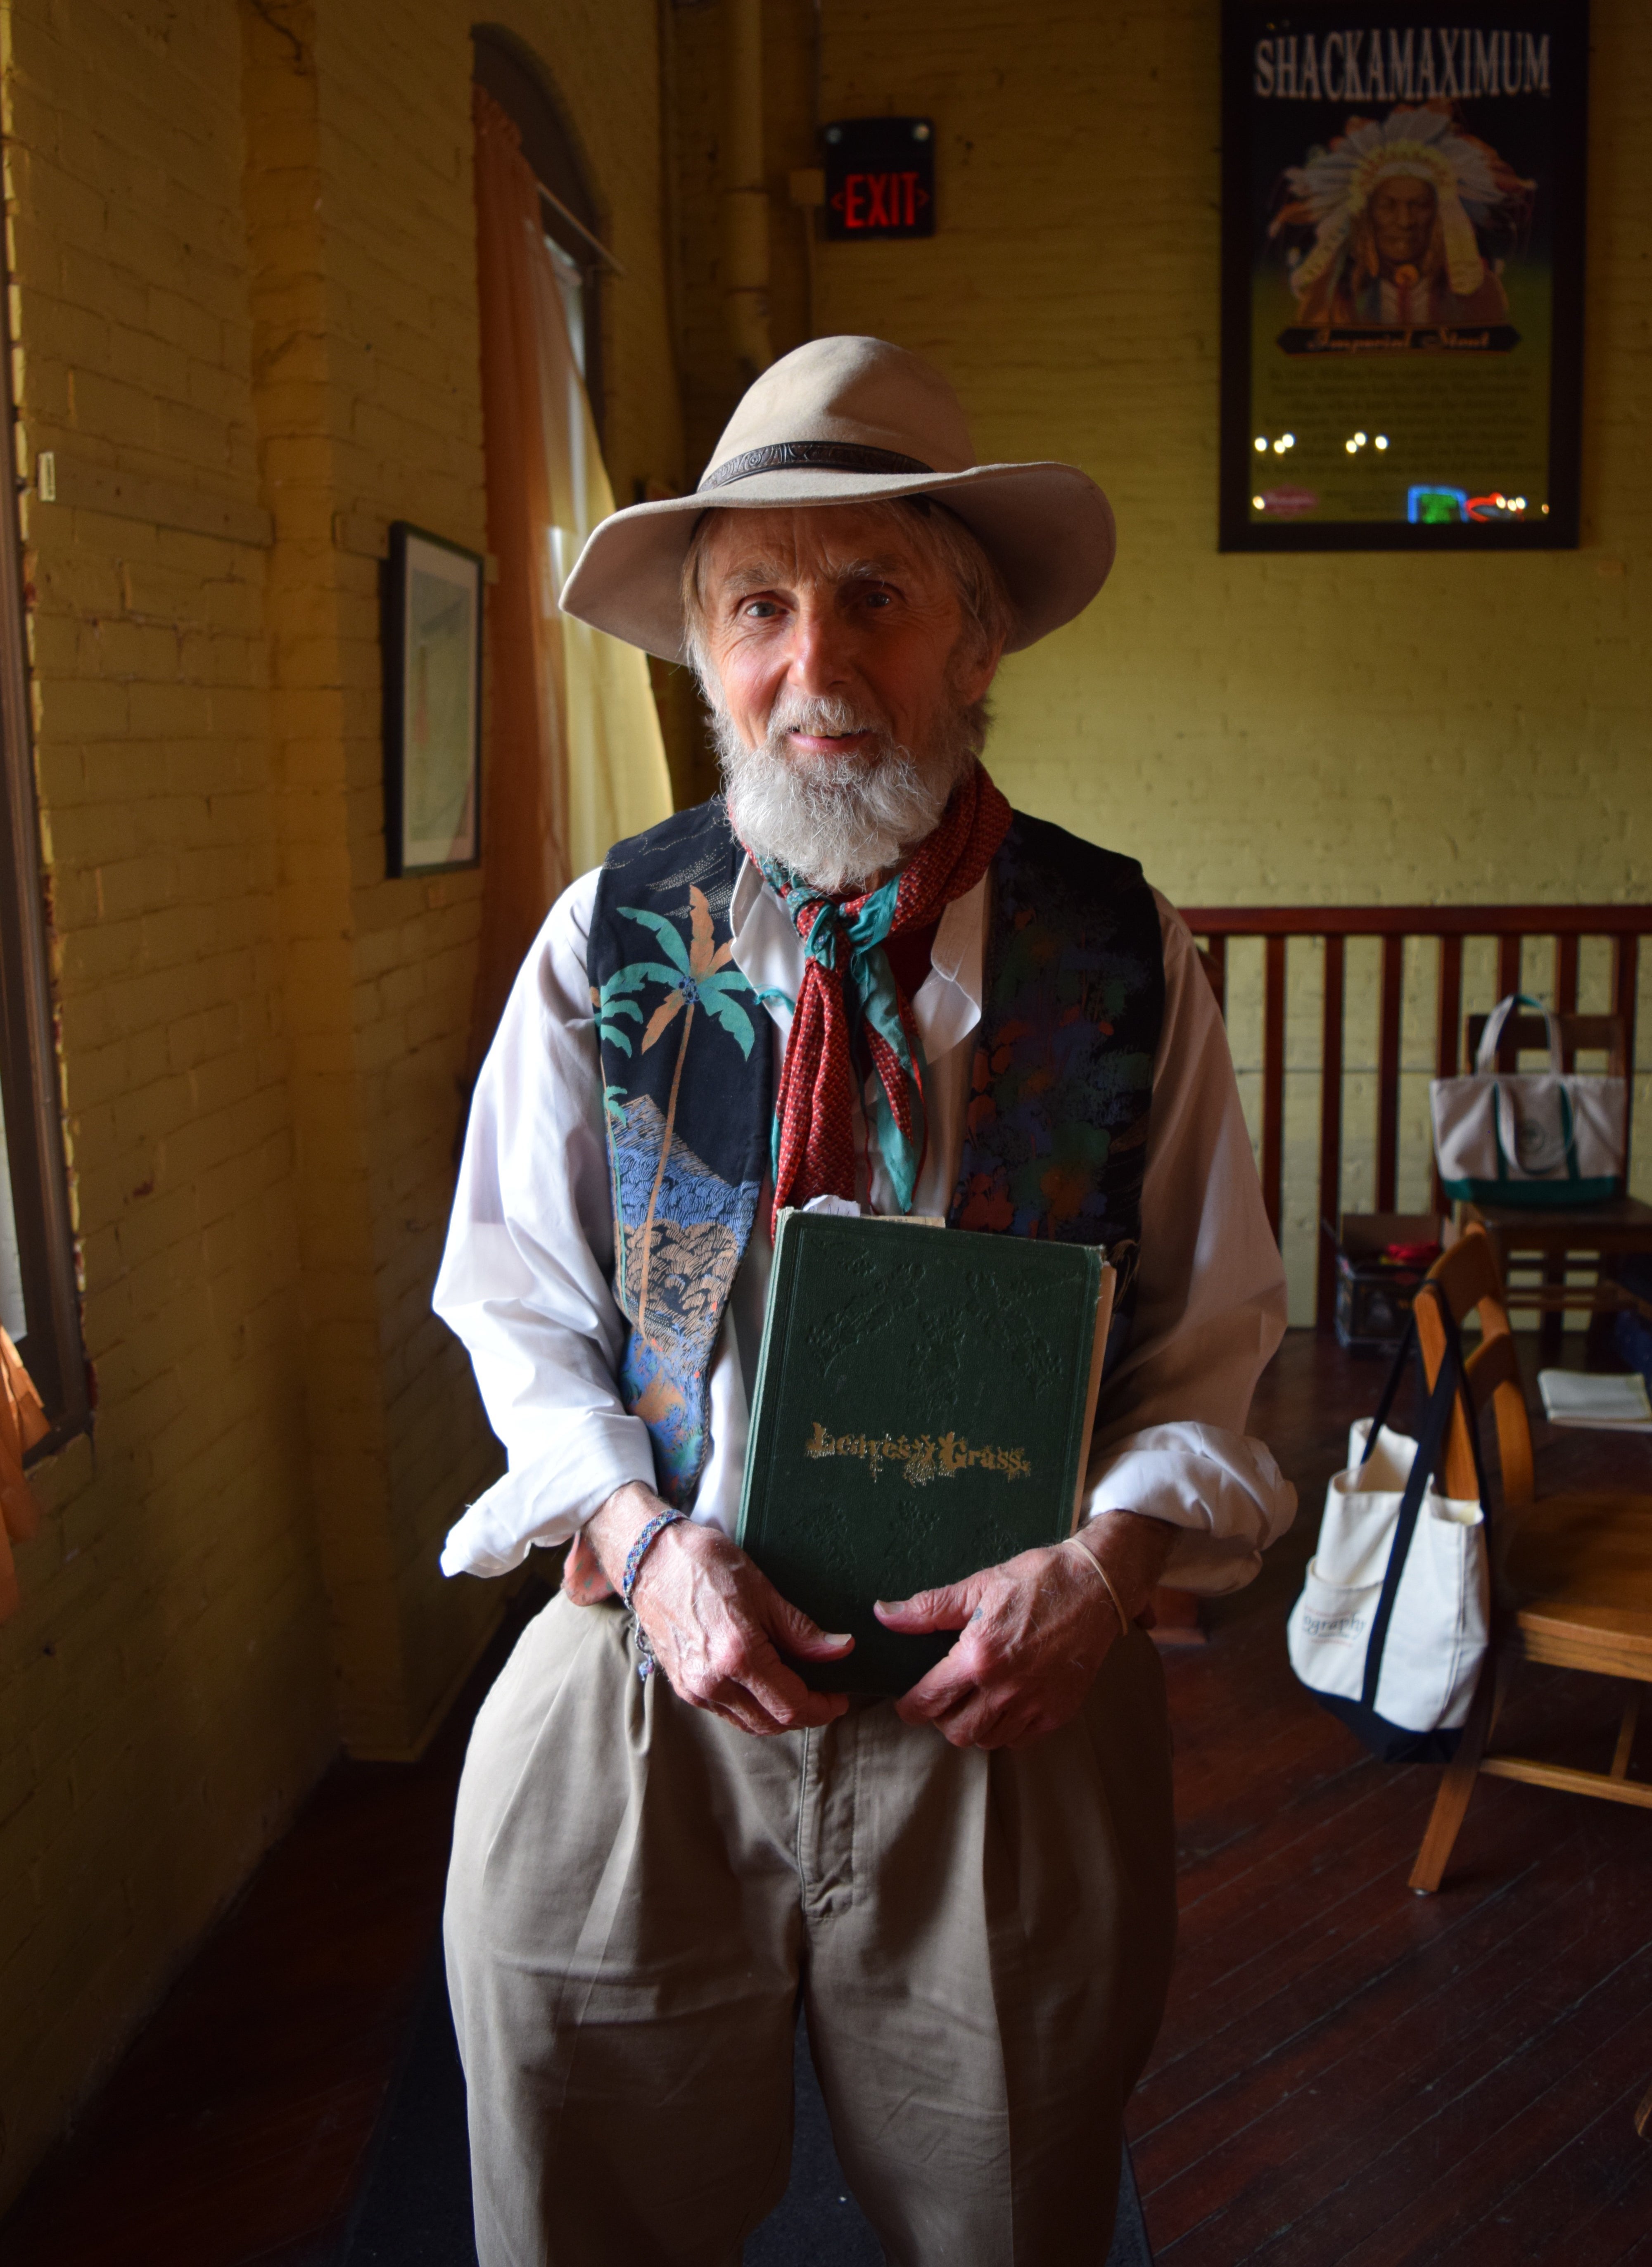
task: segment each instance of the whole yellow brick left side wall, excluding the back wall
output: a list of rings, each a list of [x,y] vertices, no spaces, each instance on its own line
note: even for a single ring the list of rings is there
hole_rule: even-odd
[[[628,270],[614,487],[678,483],[653,0],[496,20]],[[340,1732],[410,1752],[501,1603],[435,1569],[499,1460],[428,1315],[478,880],[383,880],[378,569],[335,542],[485,542],[471,14],[385,29],[374,0],[0,7],[25,465],[254,515],[231,544],[25,503],[100,1410],[0,1630],[0,2208]]]

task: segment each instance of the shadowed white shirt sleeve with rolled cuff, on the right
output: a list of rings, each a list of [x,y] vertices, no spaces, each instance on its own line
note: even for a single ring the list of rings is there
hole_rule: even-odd
[[[1244,1430],[1285,1335],[1285,1267],[1215,993],[1160,898],[1165,1027],[1142,1183],[1131,1344],[1108,1378],[1085,1514],[1144,1512],[1181,1528],[1163,1580],[1240,1589],[1292,1523],[1296,1489]]]

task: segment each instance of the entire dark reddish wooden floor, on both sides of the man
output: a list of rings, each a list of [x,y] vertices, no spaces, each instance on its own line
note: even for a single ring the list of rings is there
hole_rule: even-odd
[[[1378,1385],[1287,1340],[1255,1430],[1301,1489],[1298,1528],[1210,1614],[1210,1646],[1167,1655],[1183,1936],[1131,2111],[1153,2244],[1174,2267],[1652,2262],[1652,2142],[1632,2122],[1652,2083],[1652,1818],[1484,1782],[1444,1893],[1412,1897],[1432,1773],[1366,1761],[1285,1664],[1323,1485]],[[1652,1492],[1652,1440],[1545,1442],[1541,1480]],[[505,1641],[424,1764],[329,1775],[0,2226],[7,2267],[331,2262]],[[1589,1680],[1532,1678],[1521,1714],[1532,1743],[1609,1755]],[[1641,1771],[1647,1750],[1652,1730]]]

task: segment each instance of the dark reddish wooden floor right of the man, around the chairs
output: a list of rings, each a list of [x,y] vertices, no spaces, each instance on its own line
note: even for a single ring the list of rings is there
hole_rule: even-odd
[[[1414,1897],[1437,1775],[1369,1761],[1285,1662],[1378,1385],[1292,1335],[1253,1430],[1301,1489],[1296,1530],[1206,1650],[1167,1657],[1181,1954],[1129,2120],[1153,2247],[1172,2267],[1652,2260],[1652,1816],[1482,1782],[1444,1891]],[[1539,1487],[1652,1494],[1652,1440],[1536,1437]],[[1604,1771],[1616,1721],[1618,1689],[1527,1671],[1505,1727]]]

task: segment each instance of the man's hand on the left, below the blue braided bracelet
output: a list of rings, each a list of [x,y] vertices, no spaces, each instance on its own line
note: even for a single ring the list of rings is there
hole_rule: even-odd
[[[632,1483],[585,1526],[614,1589],[630,1546],[664,1508],[650,1487]],[[777,1648],[836,1662],[854,1639],[816,1630],[716,1528],[682,1519],[657,1535],[630,1603],[678,1698],[725,1716],[741,1732],[795,1732],[832,1723],[850,1705],[848,1693],[809,1691]]]

